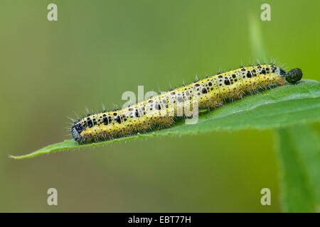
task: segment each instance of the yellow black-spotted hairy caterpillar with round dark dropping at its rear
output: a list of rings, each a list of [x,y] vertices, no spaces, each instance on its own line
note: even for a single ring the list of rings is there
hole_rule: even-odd
[[[197,100],[198,109],[215,109],[226,100],[240,99],[258,89],[284,85],[285,81],[294,84],[300,79],[302,70],[299,68],[285,72],[274,64],[240,67],[197,79],[122,109],[88,114],[75,121],[70,131],[80,144],[146,133],[172,126],[177,118],[186,118],[186,114],[177,115],[181,103],[196,108],[194,100]]]

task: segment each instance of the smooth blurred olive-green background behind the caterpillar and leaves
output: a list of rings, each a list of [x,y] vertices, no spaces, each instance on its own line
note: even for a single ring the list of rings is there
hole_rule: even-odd
[[[262,3],[272,21],[260,20]],[[7,155],[70,138],[66,116],[122,105],[138,85],[164,91],[254,62],[252,20],[268,59],[320,79],[319,9],[318,0],[0,0],[0,211],[281,211],[273,131]],[[46,203],[50,187],[58,206]],[[263,187],[272,206],[260,204]]]

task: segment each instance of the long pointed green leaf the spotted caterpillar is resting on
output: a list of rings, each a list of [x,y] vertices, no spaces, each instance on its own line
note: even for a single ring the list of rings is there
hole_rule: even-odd
[[[34,157],[54,151],[107,145],[119,141],[147,138],[159,135],[186,135],[211,131],[238,131],[247,128],[267,129],[292,126],[298,123],[320,121],[320,83],[304,80],[299,84],[265,90],[245,96],[233,103],[201,114],[198,123],[186,125],[182,121],[175,126],[146,134],[118,138],[101,143],[78,145],[73,140],[49,145],[28,155],[10,156],[15,159]]]

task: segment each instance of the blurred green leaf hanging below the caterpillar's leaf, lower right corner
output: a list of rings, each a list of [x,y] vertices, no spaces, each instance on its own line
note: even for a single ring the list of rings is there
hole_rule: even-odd
[[[278,130],[282,206],[286,212],[320,212],[320,136],[308,126]]]

